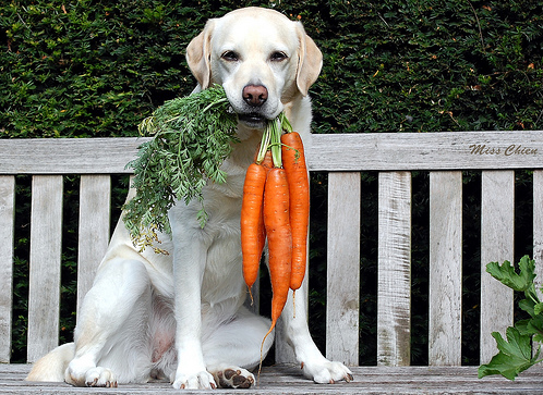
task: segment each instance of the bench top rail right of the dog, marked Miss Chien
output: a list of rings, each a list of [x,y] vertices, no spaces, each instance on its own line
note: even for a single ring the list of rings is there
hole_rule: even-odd
[[[314,135],[306,151],[314,171],[543,166],[541,131]]]

